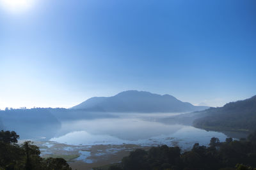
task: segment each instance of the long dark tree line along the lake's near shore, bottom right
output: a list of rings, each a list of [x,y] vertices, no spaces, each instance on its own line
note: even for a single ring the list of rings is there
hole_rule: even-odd
[[[183,153],[166,145],[137,149],[108,170],[256,170],[252,167],[256,167],[256,132],[239,141],[212,138],[208,147],[195,143]]]

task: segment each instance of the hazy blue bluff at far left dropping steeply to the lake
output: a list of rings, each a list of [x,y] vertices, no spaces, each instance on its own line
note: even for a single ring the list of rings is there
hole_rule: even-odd
[[[2,124],[1,124],[2,122]],[[61,122],[44,108],[0,111],[0,130],[15,131],[21,138],[52,138]]]

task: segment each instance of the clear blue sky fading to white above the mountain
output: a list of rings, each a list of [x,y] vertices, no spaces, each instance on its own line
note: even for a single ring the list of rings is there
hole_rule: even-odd
[[[124,90],[208,106],[256,95],[256,1],[0,5],[0,109],[68,108]]]

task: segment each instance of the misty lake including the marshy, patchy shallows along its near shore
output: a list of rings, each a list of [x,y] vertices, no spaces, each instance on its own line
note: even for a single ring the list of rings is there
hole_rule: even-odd
[[[195,143],[207,146],[212,137],[220,141],[228,137],[168,121],[180,114],[183,113],[108,113],[110,116],[106,117],[100,113],[79,120],[66,118],[53,138],[35,140],[35,145],[40,147],[42,157],[63,157],[73,169],[92,169],[120,162],[136,148],[168,145],[179,146],[184,152]]]

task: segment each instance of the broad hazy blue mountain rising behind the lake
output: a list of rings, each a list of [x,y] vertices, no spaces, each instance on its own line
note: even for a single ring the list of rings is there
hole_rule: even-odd
[[[129,90],[112,97],[92,97],[71,109],[103,112],[189,112],[205,110],[206,106],[179,101],[173,96]]]

